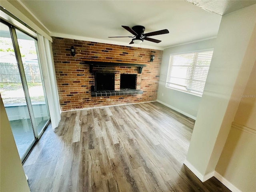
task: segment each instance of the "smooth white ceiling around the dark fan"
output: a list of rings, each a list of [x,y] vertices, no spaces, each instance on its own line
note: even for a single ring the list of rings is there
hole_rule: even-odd
[[[183,0],[21,0],[52,36],[129,46],[131,36],[121,25],[142,25],[145,33],[168,29],[151,36],[160,43],[144,41],[142,48],[158,48],[214,38],[221,16]],[[134,46],[134,44],[132,45]],[[140,45],[136,45],[140,46]]]

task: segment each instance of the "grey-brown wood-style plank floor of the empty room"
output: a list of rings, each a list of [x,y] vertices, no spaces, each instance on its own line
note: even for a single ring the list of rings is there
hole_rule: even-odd
[[[184,166],[193,126],[158,102],[62,112],[24,163],[30,190],[230,192]]]

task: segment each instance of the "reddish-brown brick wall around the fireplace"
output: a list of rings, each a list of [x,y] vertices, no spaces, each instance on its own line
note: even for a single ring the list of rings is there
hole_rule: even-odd
[[[53,37],[52,50],[60,105],[62,111],[78,108],[92,108],[125,103],[154,101],[157,98],[162,50],[119,46],[82,40]],[[70,55],[74,46],[76,55]],[[155,59],[149,62],[150,55]],[[143,94],[125,96],[91,97],[90,88],[94,85],[94,76],[83,60],[146,64],[142,73],[133,66],[96,66],[96,72],[115,74],[115,89],[120,88],[120,74],[137,74],[136,88]]]

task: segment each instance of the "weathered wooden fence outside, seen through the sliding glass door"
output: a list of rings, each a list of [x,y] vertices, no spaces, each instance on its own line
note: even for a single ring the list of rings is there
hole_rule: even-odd
[[[26,62],[23,66],[27,82],[42,82],[37,62]],[[0,82],[20,83],[21,79],[18,65],[15,63],[0,62]]]

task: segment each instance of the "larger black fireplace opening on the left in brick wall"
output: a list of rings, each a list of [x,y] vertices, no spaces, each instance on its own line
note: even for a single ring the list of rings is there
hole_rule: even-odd
[[[114,73],[96,73],[95,91],[115,90],[115,74]]]

